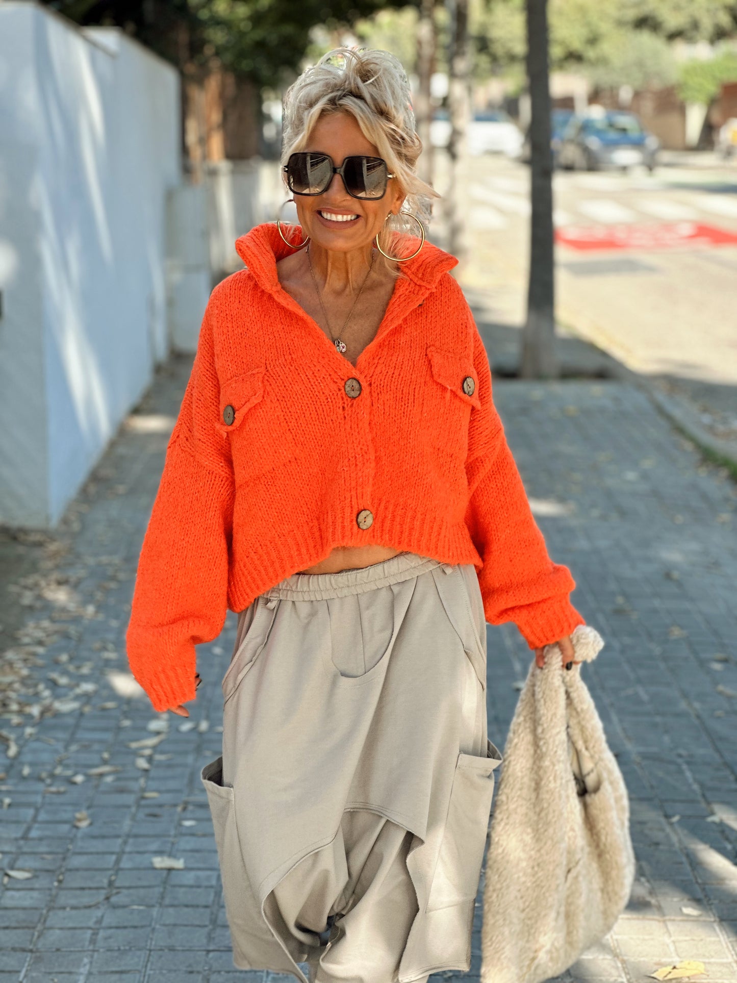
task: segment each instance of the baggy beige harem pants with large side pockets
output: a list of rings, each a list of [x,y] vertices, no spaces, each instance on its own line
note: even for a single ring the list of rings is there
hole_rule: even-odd
[[[466,970],[494,769],[473,565],[294,574],[241,611],[201,779],[233,961],[303,983]]]

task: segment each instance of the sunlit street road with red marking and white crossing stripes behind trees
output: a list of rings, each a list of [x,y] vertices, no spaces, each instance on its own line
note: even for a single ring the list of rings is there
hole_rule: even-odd
[[[672,155],[676,162],[652,175],[555,172],[557,316],[690,400],[713,434],[737,438],[737,166],[695,159],[684,156],[687,166],[679,166]],[[440,159],[441,193],[447,180]],[[462,180],[468,261],[461,280],[485,295],[493,318],[518,326],[529,184],[527,165],[489,155],[471,158]]]

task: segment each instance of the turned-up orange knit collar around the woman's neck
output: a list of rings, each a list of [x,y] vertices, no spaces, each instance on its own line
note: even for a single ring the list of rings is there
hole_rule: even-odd
[[[300,226],[292,226],[292,228],[295,230],[294,242],[301,242]],[[260,287],[268,293],[281,290],[276,263],[289,256],[294,250],[282,241],[275,222],[255,225],[250,232],[236,240],[236,251],[251,270]],[[443,273],[457,264],[458,260],[454,256],[425,240],[425,245],[415,259],[407,260],[401,265],[402,273],[408,277],[411,284],[415,285],[413,292],[425,294],[434,289]]]

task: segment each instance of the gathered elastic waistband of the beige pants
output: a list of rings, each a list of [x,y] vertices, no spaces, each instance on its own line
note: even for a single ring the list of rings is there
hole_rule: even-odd
[[[426,570],[442,566],[440,560],[420,556],[414,552],[401,552],[380,563],[338,573],[293,573],[263,592],[264,598],[286,601],[326,601],[329,598],[345,598],[351,594],[364,594],[377,587],[399,584],[411,577],[419,577]]]

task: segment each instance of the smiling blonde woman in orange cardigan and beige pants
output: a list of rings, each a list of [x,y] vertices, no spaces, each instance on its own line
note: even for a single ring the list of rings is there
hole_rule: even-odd
[[[201,773],[234,964],[425,981],[470,965],[501,761],[485,622],[571,661],[585,622],[530,512],[457,260],[410,217],[434,193],[401,65],[331,52],[284,121],[299,225],[239,239],[247,268],[212,292],[128,656],[154,708],[188,716],[195,645],[239,612],[223,753]]]

